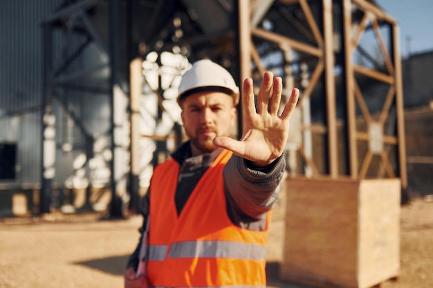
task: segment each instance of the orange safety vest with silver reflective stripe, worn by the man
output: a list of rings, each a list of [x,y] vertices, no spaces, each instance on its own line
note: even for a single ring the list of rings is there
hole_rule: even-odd
[[[151,287],[266,287],[265,231],[242,229],[228,218],[220,153],[177,215],[179,165],[156,167],[151,180],[147,278]]]

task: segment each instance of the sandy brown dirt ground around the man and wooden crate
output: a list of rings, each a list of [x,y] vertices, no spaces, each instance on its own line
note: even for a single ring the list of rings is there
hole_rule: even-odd
[[[281,206],[281,203],[280,203]],[[278,278],[284,218],[274,213],[268,287],[305,288]],[[95,213],[0,218],[1,288],[120,288],[127,256],[138,241],[139,216],[101,220]],[[433,201],[401,207],[400,273],[381,288],[433,287]]]

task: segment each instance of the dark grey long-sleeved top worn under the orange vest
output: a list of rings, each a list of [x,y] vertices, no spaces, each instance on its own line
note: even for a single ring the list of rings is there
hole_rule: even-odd
[[[221,153],[218,148],[211,153],[192,156],[190,142],[185,142],[173,154],[172,158],[180,165],[178,184],[174,200],[178,215],[190,198],[201,176]],[[272,209],[277,200],[279,182],[284,174],[284,157],[279,157],[266,167],[257,168],[237,155],[232,155],[223,171],[227,213],[233,224],[244,229],[260,231],[265,228],[265,213]],[[149,213],[149,192],[140,201],[140,213],[143,215],[144,231]],[[140,237],[141,242],[141,237]],[[127,268],[138,266],[140,242],[129,257]]]

